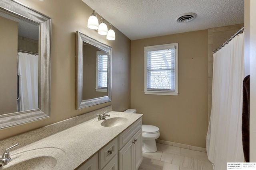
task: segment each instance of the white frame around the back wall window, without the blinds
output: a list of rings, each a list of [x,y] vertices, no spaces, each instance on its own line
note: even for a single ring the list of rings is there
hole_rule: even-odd
[[[159,89],[159,90],[148,90],[147,89],[147,52],[148,51],[158,51],[164,49],[175,49],[175,59],[174,59],[174,81],[175,87],[174,91],[170,91],[167,89]],[[172,95],[178,96],[178,43],[170,43],[170,44],[163,44],[163,45],[152,45],[144,47],[144,94],[151,94],[151,95]]]

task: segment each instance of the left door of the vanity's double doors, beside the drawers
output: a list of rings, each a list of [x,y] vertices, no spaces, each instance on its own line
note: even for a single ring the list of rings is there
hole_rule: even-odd
[[[118,151],[118,169],[133,170],[134,169],[134,139],[130,139],[121,150]]]

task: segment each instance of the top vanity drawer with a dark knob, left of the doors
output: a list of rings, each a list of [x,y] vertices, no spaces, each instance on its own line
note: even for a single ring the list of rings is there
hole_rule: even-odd
[[[99,168],[103,168],[118,152],[117,138],[99,152]]]

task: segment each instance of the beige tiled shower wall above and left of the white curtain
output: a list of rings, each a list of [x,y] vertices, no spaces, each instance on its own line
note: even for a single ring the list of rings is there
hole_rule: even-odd
[[[208,29],[208,124],[212,110],[212,52],[226,42],[244,23]]]

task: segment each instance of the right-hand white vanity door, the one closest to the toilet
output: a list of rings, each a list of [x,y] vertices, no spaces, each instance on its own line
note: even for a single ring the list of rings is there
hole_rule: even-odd
[[[134,169],[138,170],[142,162],[142,128],[134,135],[135,147],[134,147]]]

